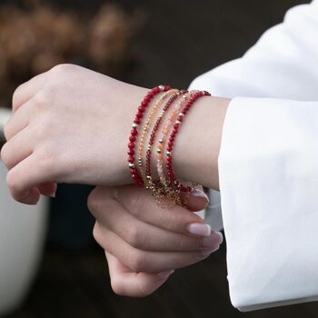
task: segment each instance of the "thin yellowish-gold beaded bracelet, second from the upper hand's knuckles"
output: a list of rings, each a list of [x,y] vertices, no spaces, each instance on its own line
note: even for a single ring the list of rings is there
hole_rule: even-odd
[[[151,111],[147,117],[147,120],[144,124],[143,133],[140,136],[140,141],[138,145],[138,166],[140,169],[140,174],[142,176],[144,187],[146,189],[149,189],[149,184],[151,182],[150,176],[146,174],[143,164],[143,154],[144,154],[144,142],[145,142],[145,136],[149,131],[149,126],[154,118],[154,115],[157,113],[158,108],[164,103],[164,100],[170,95],[175,94],[179,92],[177,89],[170,89],[166,91],[164,94],[160,96],[160,98],[154,103],[153,107],[151,108]]]

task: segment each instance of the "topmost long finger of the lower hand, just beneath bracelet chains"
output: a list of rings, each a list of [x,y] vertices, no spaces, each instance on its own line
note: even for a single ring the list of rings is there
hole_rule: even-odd
[[[156,204],[154,196],[144,188],[131,184],[112,187],[111,192],[110,195],[123,204],[129,213],[145,223],[181,234],[191,234],[188,230],[189,224],[203,224],[206,236],[211,234],[211,227],[204,224],[199,215],[179,205],[163,209]]]

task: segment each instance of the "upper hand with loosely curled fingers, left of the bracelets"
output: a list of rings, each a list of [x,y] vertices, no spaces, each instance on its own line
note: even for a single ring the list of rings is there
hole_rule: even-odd
[[[15,200],[36,204],[56,183],[132,184],[126,144],[147,92],[75,65],[20,85],[1,150]]]

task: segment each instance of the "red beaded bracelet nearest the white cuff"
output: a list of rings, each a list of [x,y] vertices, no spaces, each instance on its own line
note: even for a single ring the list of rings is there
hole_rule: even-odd
[[[184,120],[184,115],[187,114],[187,112],[189,111],[191,106],[194,104],[194,102],[198,98],[205,96],[205,95],[211,96],[211,94],[209,92],[197,91],[196,93],[194,93],[191,96],[191,98],[189,98],[189,100],[186,102],[186,104],[184,104],[183,109],[179,113],[179,115],[174,123],[174,129],[173,129],[173,131],[170,134],[170,137],[168,139],[169,141],[168,141],[168,145],[167,145],[166,153],[165,153],[166,154],[166,171],[167,171],[167,175],[168,175],[168,184],[170,184],[171,186],[176,185],[177,187],[180,188],[181,191],[190,191],[191,187],[184,186],[183,184],[180,184],[175,179],[174,170],[173,170],[173,156],[172,156],[172,152],[173,152],[173,148],[174,148],[174,138],[175,138],[175,135],[178,133],[178,129],[180,127],[180,124]]]

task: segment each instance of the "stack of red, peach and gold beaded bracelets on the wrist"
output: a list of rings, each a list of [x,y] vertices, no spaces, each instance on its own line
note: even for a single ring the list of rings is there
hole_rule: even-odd
[[[185,207],[189,195],[197,185],[195,183],[181,183],[175,178],[173,149],[175,137],[185,114],[188,113],[194,102],[204,95],[211,94],[206,91],[193,90],[188,92],[187,90],[173,89],[168,85],[159,85],[152,88],[138,106],[128,143],[128,167],[134,183],[150,190],[156,203],[163,208],[175,204]],[[155,101],[154,98],[156,98]],[[149,114],[142,127],[144,113],[150,105]],[[167,117],[166,120],[165,117]],[[151,124],[153,124],[152,131],[150,131]],[[154,148],[155,137],[159,131],[161,134]],[[139,138],[138,134],[140,134]],[[145,143],[146,137],[148,137],[147,143]],[[145,144],[147,147],[144,152]],[[153,151],[156,152],[157,178],[152,175]]]

